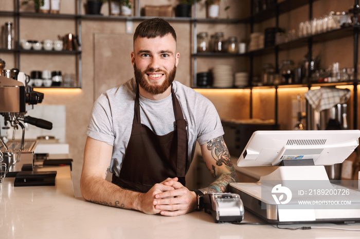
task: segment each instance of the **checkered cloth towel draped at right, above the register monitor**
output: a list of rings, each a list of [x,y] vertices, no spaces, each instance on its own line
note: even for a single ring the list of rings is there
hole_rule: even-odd
[[[316,111],[330,109],[337,104],[344,104],[350,98],[349,89],[337,89],[335,87],[321,87],[318,90],[309,90],[305,98]]]

